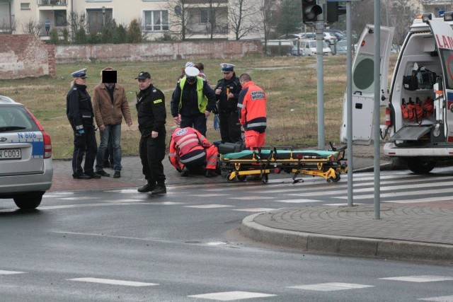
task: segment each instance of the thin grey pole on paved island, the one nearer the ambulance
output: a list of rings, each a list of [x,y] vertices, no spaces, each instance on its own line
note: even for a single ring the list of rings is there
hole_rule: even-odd
[[[381,175],[381,1],[374,0],[374,219],[381,219],[380,175]]]

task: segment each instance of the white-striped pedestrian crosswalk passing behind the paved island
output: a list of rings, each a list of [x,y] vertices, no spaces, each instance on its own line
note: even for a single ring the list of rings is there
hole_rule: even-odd
[[[355,204],[367,204],[374,201],[374,174],[357,173],[352,180],[352,200]],[[453,178],[446,173],[430,175],[415,175],[407,171],[389,171],[383,173],[379,184],[379,198],[385,203],[429,203],[445,202],[452,200]],[[348,178],[342,178],[340,182],[325,182],[318,178],[308,178],[305,182],[292,184],[283,182],[276,184],[258,183],[232,183],[221,188],[213,188],[212,185],[168,186],[168,194],[159,200],[150,200],[149,194],[139,194],[135,188],[120,190],[105,190],[112,194],[113,198],[108,201],[100,197],[86,197],[80,192],[50,192],[44,195],[47,200],[61,199],[64,201],[88,201],[78,206],[65,204],[63,206],[46,207],[42,204],[40,209],[64,209],[67,207],[88,207],[95,204],[102,206],[130,204],[149,204],[183,206],[192,209],[216,209],[229,210],[255,209],[259,202],[260,207],[265,209],[277,209],[281,207],[294,207],[297,204],[325,204],[341,205],[348,202]],[[215,204],[215,207],[212,206]],[[204,205],[204,207],[202,207]],[[0,210],[8,211],[8,210]]]

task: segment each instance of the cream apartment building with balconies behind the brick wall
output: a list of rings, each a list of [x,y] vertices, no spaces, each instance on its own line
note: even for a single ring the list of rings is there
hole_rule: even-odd
[[[28,27],[33,24],[46,40],[46,21],[61,34],[71,13],[86,16],[88,33],[100,32],[112,20],[128,25],[136,18],[149,40],[165,33],[181,33],[181,28],[187,39],[234,39],[229,0],[0,0],[0,33],[29,33]],[[249,18],[248,22],[257,21]],[[244,38],[257,37],[258,31]]]

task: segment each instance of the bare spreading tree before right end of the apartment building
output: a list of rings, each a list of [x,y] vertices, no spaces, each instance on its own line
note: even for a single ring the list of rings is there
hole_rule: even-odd
[[[236,40],[250,33],[256,33],[259,26],[256,25],[258,10],[253,1],[231,0],[228,4],[228,23]]]

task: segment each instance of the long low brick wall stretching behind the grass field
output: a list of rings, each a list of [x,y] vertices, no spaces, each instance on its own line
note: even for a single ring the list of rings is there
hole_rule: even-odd
[[[139,44],[59,45],[55,62],[146,62],[171,59],[232,59],[260,54],[259,40],[214,42],[153,42]]]

